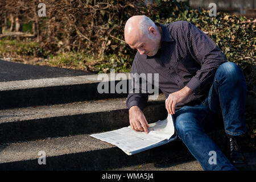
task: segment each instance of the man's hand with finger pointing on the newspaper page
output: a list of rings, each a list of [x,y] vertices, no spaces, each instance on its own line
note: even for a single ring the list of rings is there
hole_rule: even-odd
[[[129,119],[131,129],[135,131],[145,131],[148,134],[148,127],[150,127],[147,123],[147,120],[142,112],[142,110],[138,106],[131,106],[129,109]]]

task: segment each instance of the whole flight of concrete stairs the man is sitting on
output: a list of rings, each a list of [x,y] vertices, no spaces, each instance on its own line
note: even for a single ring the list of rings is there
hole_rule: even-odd
[[[97,75],[0,82],[0,170],[119,170],[195,160],[179,139],[129,156],[90,137],[129,126],[127,94],[100,94],[99,82]],[[149,123],[167,117],[164,100],[160,94],[148,101],[143,113]],[[218,129],[210,136],[221,144],[222,134]],[[46,164],[38,163],[40,151]]]

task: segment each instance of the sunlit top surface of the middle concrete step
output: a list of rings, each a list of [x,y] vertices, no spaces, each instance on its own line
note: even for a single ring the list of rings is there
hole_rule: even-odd
[[[164,94],[159,94],[157,100],[149,100],[148,103],[163,100],[165,100]],[[96,113],[119,109],[127,109],[126,98],[109,98],[105,100],[82,101],[68,104],[21,107],[0,110],[0,123]]]

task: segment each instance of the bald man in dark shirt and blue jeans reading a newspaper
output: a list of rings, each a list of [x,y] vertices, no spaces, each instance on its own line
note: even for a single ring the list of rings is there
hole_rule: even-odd
[[[243,163],[236,137],[245,134],[246,82],[242,70],[228,62],[220,48],[199,28],[185,21],[162,25],[133,16],[125,25],[125,41],[138,52],[131,73],[159,73],[159,89],[173,114],[179,138],[205,170],[237,170]],[[142,112],[147,93],[129,93],[130,125],[148,133]],[[230,161],[205,133],[223,119]],[[209,164],[209,152],[216,164]]]

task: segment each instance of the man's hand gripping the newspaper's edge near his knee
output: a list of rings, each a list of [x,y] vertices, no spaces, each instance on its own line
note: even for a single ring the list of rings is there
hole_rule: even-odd
[[[183,89],[169,94],[166,99],[166,110],[168,111],[168,114],[175,114],[175,106],[191,93],[192,90],[185,86]]]

